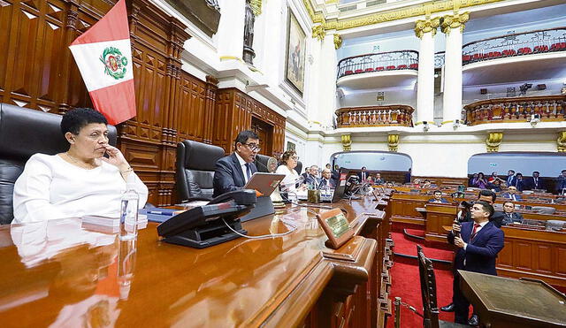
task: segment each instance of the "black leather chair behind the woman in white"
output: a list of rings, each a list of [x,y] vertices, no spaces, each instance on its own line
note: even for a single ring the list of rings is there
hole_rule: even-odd
[[[13,219],[14,183],[27,159],[35,153],[55,155],[69,149],[60,124],[60,115],[0,103],[0,224]],[[116,145],[116,128],[108,126],[108,130],[111,145]]]

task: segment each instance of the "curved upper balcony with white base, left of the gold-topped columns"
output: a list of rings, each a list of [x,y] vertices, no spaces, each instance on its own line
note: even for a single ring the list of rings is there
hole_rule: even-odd
[[[406,87],[417,80],[418,52],[400,50],[346,57],[338,63],[336,85],[351,89]],[[375,77],[387,76],[387,79]]]

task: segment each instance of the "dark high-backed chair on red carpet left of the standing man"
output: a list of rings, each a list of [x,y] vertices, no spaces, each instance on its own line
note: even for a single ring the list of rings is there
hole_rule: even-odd
[[[439,308],[436,302],[436,278],[432,261],[424,256],[423,248],[417,245],[418,273],[421,281],[421,296],[423,298],[423,327],[469,327],[465,324],[455,324],[439,320]]]

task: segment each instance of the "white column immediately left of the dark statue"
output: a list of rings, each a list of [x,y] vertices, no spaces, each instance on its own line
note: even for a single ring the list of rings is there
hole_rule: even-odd
[[[246,0],[223,0],[218,24],[218,56],[222,59],[240,58],[244,46]]]

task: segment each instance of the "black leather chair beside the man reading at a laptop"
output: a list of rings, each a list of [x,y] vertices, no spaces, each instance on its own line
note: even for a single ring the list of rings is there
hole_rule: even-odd
[[[175,182],[179,202],[212,199],[216,161],[223,156],[224,149],[203,142],[186,140],[177,144]]]

